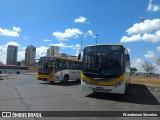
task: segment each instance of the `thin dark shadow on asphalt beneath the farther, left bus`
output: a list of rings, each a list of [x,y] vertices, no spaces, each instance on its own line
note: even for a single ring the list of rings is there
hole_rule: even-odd
[[[68,81],[67,83],[63,82],[55,82],[54,84],[50,84],[49,82],[47,83],[39,83],[39,84],[48,84],[48,85],[57,85],[57,86],[74,86],[74,85],[79,85],[81,84],[81,81]]]

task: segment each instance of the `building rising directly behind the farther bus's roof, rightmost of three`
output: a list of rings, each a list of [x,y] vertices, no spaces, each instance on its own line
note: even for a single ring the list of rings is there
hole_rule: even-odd
[[[58,46],[51,46],[47,49],[47,56],[59,56],[60,55],[60,47]]]

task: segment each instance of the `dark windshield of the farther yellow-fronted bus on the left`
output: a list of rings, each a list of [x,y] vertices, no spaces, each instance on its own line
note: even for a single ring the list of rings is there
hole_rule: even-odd
[[[38,72],[41,74],[49,74],[53,71],[53,66],[53,59],[40,59],[38,63]]]

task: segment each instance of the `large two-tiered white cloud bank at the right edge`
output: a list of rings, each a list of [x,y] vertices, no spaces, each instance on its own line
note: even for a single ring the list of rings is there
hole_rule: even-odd
[[[123,36],[120,42],[160,42],[160,19],[145,20],[126,30],[130,36]]]

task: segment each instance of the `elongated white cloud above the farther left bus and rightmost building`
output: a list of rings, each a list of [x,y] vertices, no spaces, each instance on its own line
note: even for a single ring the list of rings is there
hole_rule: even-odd
[[[53,32],[53,36],[55,36],[59,41],[67,40],[68,38],[77,38],[78,35],[81,35],[82,32],[77,28],[66,29],[65,32]]]

